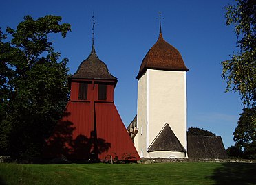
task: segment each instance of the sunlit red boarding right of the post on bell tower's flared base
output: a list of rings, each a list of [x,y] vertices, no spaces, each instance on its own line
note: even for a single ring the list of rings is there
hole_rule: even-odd
[[[111,145],[107,151],[99,153],[100,160],[109,155],[118,156],[119,160],[128,156],[133,157],[131,160],[140,158],[114,103],[96,103],[96,125],[97,138]]]

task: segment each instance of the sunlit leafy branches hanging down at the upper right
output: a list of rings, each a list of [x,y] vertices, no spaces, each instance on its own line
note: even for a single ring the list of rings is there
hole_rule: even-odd
[[[238,92],[244,106],[251,107],[256,102],[256,1],[236,2],[225,10],[226,25],[235,25],[239,53],[222,62],[222,78],[227,84],[226,92]]]

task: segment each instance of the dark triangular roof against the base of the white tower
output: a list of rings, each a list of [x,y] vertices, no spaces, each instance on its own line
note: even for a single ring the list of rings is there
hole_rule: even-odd
[[[168,123],[164,125],[147,151],[180,151],[186,153],[186,149],[184,149]]]

